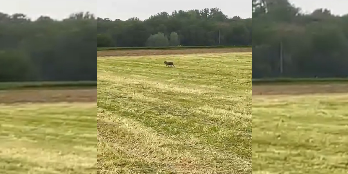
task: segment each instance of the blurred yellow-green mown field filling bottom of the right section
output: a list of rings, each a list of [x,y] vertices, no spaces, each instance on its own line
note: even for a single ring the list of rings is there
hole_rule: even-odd
[[[253,87],[253,174],[347,174],[348,93],[274,88],[283,95],[254,95]]]

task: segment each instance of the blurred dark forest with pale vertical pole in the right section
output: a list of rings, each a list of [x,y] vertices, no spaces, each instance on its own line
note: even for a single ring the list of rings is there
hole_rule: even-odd
[[[348,15],[252,0],[253,78],[348,77]]]

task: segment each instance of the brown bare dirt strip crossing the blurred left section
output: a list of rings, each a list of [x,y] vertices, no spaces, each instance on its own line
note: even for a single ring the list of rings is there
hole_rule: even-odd
[[[0,103],[97,102],[97,89],[0,90]]]

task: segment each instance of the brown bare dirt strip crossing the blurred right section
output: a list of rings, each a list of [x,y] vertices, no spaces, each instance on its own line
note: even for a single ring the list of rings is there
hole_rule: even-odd
[[[252,95],[348,93],[348,84],[253,85]]]

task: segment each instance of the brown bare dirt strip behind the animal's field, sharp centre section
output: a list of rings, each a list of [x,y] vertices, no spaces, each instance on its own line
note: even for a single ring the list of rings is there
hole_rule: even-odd
[[[251,52],[251,48],[105,50],[105,51],[98,51],[98,57],[147,56],[147,55],[170,55],[170,54],[203,54],[203,53],[237,53],[237,52]]]

